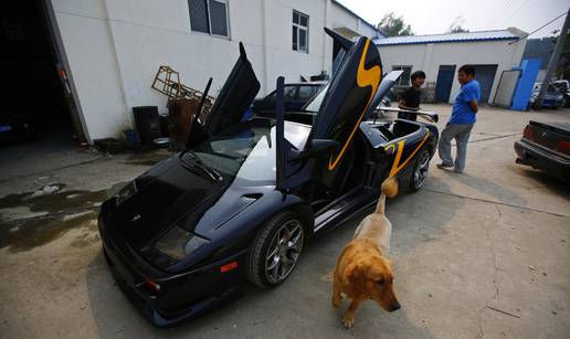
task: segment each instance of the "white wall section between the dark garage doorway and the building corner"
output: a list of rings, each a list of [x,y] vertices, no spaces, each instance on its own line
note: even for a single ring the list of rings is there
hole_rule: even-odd
[[[130,120],[105,7],[99,1],[57,0],[53,8],[68,66],[74,70],[71,77],[87,127],[85,136],[89,141],[115,136]]]

